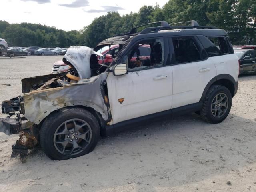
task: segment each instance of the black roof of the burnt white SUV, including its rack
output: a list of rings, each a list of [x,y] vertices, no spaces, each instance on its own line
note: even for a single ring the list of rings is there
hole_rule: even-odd
[[[184,24],[190,23],[191,25],[175,25],[175,24]],[[157,27],[148,27],[137,32],[136,30],[140,27],[152,25],[152,24],[161,24]],[[196,21],[187,21],[174,24],[168,24],[166,21],[160,21],[155,23],[148,23],[134,27],[130,30],[129,33],[120,34],[106,40],[103,40],[98,45],[110,44],[110,43],[120,43],[124,44],[130,39],[135,38],[136,36],[148,37],[158,37],[158,36],[175,36],[175,35],[204,35],[204,36],[227,36],[227,32],[223,29],[218,29],[215,26],[200,26]]]

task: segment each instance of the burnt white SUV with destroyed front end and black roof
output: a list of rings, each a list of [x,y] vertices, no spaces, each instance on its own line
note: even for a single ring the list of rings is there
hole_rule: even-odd
[[[23,79],[24,96],[2,103],[2,112],[16,113],[20,121],[2,119],[0,130],[22,131],[33,141],[20,139],[14,154],[40,140],[51,159],[75,158],[92,151],[100,134],[160,116],[196,112],[206,122],[222,122],[238,89],[239,61],[228,34],[195,21],[159,23],[106,39],[94,50],[72,46],[63,58],[69,71]],[[98,63],[102,48],[109,48],[109,65]]]

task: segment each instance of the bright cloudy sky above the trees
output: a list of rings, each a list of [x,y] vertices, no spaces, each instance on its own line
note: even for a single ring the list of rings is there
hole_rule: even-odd
[[[121,15],[143,5],[160,7],[168,0],[1,0],[1,17],[9,23],[39,23],[66,31],[80,30],[108,11]]]

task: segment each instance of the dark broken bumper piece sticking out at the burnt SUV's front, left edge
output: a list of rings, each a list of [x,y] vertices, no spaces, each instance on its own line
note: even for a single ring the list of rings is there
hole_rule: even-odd
[[[14,118],[0,118],[0,132],[6,135],[18,134],[20,123]]]

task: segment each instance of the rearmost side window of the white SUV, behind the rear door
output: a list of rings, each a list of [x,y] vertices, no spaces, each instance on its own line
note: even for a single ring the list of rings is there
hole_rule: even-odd
[[[198,35],[209,57],[230,54],[230,45],[225,37],[208,37]]]

